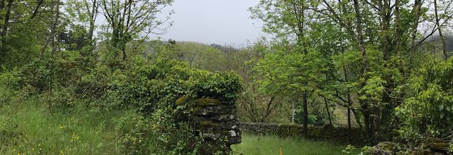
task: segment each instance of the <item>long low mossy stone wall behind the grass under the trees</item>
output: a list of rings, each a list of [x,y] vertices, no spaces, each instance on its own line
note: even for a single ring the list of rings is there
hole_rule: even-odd
[[[348,128],[325,126],[309,126],[308,137],[304,137],[303,125],[274,123],[239,123],[242,132],[252,135],[277,135],[279,137],[302,137],[309,140],[337,142],[339,144],[364,145],[361,131],[351,130],[351,142],[348,142]]]

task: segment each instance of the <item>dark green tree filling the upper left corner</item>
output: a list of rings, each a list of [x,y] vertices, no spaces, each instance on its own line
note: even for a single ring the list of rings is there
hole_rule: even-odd
[[[11,2],[8,4],[8,2]],[[62,21],[55,23],[58,1],[0,1],[1,59],[6,66],[29,62],[47,51],[53,25],[61,30]],[[62,18],[60,16],[60,18]]]

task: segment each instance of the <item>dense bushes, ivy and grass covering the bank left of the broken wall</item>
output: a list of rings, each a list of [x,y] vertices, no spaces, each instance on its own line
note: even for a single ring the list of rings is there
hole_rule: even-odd
[[[115,66],[61,54],[0,75],[1,154],[196,154],[188,99],[233,99],[234,73],[135,56]]]

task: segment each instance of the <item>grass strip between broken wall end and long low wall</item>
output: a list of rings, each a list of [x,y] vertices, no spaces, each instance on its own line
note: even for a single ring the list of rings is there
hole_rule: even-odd
[[[285,138],[275,136],[256,136],[243,135],[242,143],[233,145],[231,148],[238,154],[304,154],[304,155],[328,155],[328,154],[345,154],[342,152],[346,146],[329,144],[327,142],[313,142],[309,140],[299,140],[294,138]],[[360,154],[357,149],[351,154]]]

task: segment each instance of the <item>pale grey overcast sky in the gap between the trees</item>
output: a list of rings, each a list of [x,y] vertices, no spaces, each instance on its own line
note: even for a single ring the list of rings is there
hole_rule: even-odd
[[[175,0],[168,10],[173,26],[162,40],[241,46],[263,35],[260,22],[250,18],[248,8],[259,0]],[[163,11],[163,14],[168,11]]]

